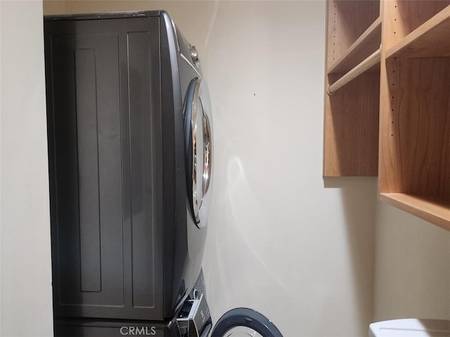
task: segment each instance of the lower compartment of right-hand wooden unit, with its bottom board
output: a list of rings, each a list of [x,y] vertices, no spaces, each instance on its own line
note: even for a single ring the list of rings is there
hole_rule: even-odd
[[[450,212],[450,60],[390,58],[385,64],[380,193],[392,196],[394,206],[450,230],[442,220]]]

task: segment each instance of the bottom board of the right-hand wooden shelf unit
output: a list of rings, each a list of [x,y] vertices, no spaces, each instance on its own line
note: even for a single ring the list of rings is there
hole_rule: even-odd
[[[380,199],[450,231],[450,200],[406,193],[380,193]]]

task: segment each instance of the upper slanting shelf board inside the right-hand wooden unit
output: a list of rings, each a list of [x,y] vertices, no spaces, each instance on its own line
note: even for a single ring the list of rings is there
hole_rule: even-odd
[[[450,57],[450,5],[392,46],[386,57]]]

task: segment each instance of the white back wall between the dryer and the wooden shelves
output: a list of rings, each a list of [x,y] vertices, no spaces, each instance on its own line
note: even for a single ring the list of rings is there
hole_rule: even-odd
[[[285,336],[364,336],[376,182],[323,187],[324,17],[321,1],[214,8],[200,53],[217,149],[205,270],[215,317],[245,306]]]

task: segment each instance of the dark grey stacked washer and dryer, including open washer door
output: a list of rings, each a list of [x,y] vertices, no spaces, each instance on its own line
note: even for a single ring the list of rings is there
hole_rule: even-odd
[[[165,11],[48,16],[44,35],[55,336],[281,336],[243,308],[212,329],[195,47]]]

